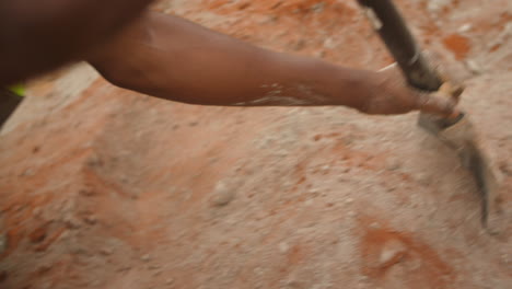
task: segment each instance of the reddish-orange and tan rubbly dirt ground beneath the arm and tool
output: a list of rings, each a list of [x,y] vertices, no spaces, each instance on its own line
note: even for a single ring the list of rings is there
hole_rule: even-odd
[[[0,135],[0,288],[511,288],[512,1],[397,3],[467,79],[501,234],[416,114],[191,106],[79,66],[36,81]],[[392,61],[356,1],[154,9],[350,67]]]

